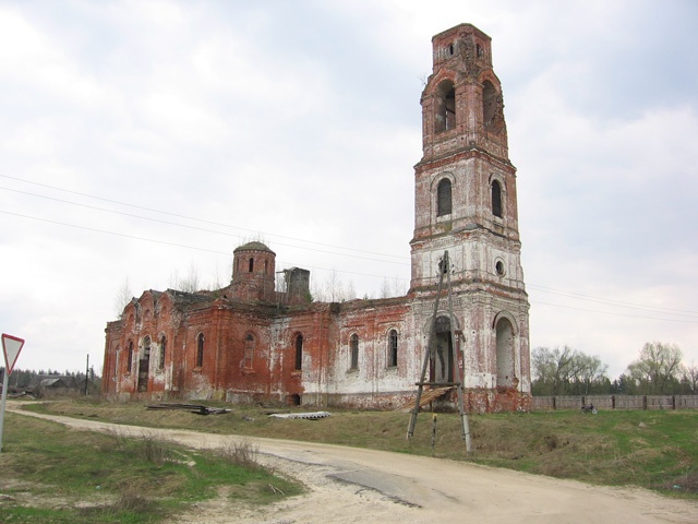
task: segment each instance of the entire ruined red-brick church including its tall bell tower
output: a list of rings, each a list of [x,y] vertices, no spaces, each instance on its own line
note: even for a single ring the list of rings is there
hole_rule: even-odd
[[[395,408],[413,402],[426,369],[432,389],[445,386],[442,403],[462,380],[469,412],[528,409],[516,169],[491,38],[460,24],[432,44],[408,294],[312,301],[310,272],[277,273],[274,251],[245,243],[229,286],[146,290],[107,324],[106,395]],[[443,272],[450,295],[444,288],[435,310]]]

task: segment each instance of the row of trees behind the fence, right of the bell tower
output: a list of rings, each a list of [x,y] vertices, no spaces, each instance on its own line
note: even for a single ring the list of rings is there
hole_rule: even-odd
[[[531,391],[557,395],[690,395],[698,393],[698,366],[683,362],[676,344],[648,342],[624,373],[611,380],[597,356],[569,346],[531,353]]]

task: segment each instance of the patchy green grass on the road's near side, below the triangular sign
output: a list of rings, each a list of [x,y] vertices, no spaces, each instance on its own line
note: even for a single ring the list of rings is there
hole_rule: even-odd
[[[158,523],[194,502],[228,497],[266,503],[301,492],[248,449],[192,451],[158,440],[76,431],[5,414],[0,454],[2,523]]]

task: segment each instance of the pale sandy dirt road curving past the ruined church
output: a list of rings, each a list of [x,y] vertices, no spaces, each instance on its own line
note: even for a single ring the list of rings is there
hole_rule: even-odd
[[[157,433],[192,448],[217,448],[231,438],[31,416],[84,430],[118,429],[133,436]],[[698,503],[660,497],[642,489],[588,486],[446,460],[339,445],[270,439],[254,442],[258,445],[261,462],[300,479],[310,492],[264,509],[241,508],[220,497],[194,508],[179,524],[698,523]]]

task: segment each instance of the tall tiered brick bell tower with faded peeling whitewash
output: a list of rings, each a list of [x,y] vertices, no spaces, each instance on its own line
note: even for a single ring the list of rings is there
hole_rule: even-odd
[[[492,39],[460,24],[434,36],[432,46],[433,72],[421,97],[422,158],[414,166],[410,291],[434,296],[448,250],[466,388],[529,393],[516,168]]]

